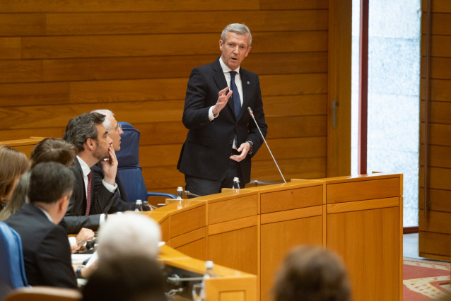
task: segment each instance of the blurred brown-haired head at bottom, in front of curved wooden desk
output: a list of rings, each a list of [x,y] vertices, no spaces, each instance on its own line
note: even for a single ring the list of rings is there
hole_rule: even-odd
[[[341,258],[322,247],[291,249],[276,275],[276,301],[349,301],[351,284]]]

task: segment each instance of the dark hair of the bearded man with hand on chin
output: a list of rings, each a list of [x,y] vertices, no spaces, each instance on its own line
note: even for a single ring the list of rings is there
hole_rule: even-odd
[[[66,131],[64,131],[63,139],[72,143],[80,153],[84,150],[83,145],[88,138],[97,141],[97,129],[95,124],[102,124],[105,115],[99,113],[83,113],[74,117],[67,123]]]

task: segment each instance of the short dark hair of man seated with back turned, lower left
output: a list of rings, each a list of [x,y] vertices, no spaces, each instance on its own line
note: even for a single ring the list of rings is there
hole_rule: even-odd
[[[39,163],[31,170],[28,199],[30,203],[55,203],[71,193],[74,181],[74,173],[61,163]]]

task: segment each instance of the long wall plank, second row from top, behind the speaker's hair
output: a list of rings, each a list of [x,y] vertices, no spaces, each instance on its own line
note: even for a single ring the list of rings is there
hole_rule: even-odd
[[[217,33],[211,24],[223,16],[223,10],[52,13],[47,15],[47,35]],[[327,30],[326,10],[236,11],[234,18],[249,19],[247,25],[259,31]]]

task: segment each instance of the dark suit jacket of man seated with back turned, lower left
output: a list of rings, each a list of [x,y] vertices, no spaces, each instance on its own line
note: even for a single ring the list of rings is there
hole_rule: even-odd
[[[61,225],[30,203],[24,203],[5,223],[21,235],[28,284],[77,288],[71,247]]]

